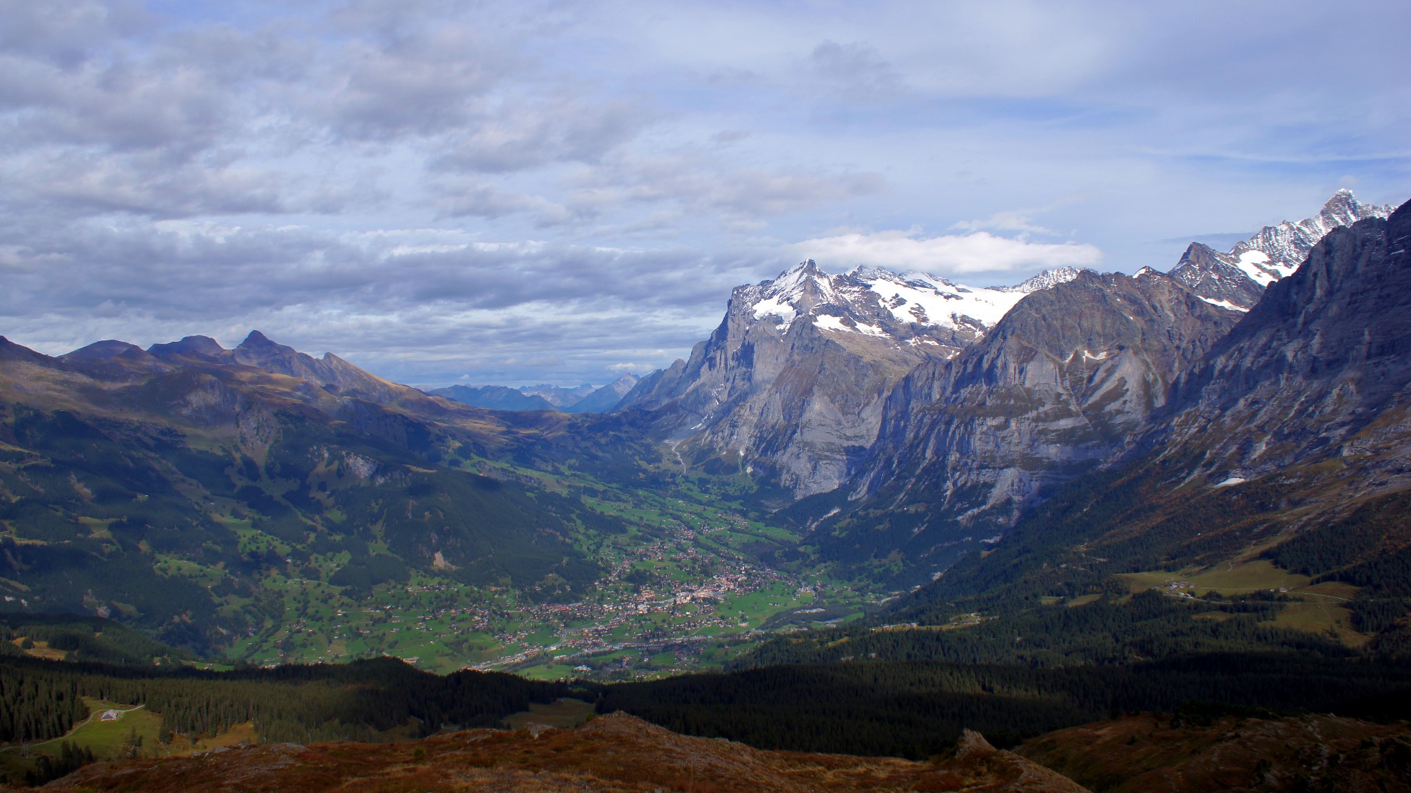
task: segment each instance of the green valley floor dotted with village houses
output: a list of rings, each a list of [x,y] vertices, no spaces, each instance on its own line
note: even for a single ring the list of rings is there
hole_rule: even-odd
[[[329,576],[277,577],[267,586],[288,622],[238,639],[231,655],[260,665],[391,655],[439,673],[631,680],[718,669],[766,631],[849,621],[880,598],[823,570],[766,564],[752,549],[794,539],[782,529],[682,498],[650,507],[622,511],[636,523],[626,535],[588,538],[607,570],[571,600],[418,571],[356,601]]]

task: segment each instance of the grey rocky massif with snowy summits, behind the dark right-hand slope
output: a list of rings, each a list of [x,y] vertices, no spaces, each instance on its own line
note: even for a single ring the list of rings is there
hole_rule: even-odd
[[[1268,285],[1329,230],[1390,213],[1339,190],[1228,254],[1192,243],[1170,272],[1067,268],[1009,288],[807,261],[735,289],[715,333],[621,406],[689,464],[783,485],[776,505],[803,498],[789,512],[825,555],[900,552],[938,571],[1046,488],[1125,459],[1191,370],[1264,316],[1243,315]]]

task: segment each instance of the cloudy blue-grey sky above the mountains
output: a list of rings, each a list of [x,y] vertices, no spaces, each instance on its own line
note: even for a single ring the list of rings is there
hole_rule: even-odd
[[[0,0],[0,334],[607,382],[803,258],[1168,270],[1411,199],[1411,4]]]

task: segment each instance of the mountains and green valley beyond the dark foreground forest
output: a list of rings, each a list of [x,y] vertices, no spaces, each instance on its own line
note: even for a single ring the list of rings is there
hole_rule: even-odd
[[[0,339],[0,588],[200,652],[346,658],[401,646],[350,626],[360,600],[464,587],[478,638],[423,619],[447,663],[615,646],[571,621],[531,639],[528,603],[679,636],[875,612],[937,577],[888,608],[945,621],[1254,559],[1383,591],[1408,532],[1342,540],[1407,487],[1407,223],[1339,192],[1168,274],[1015,286],[804,261],[737,288],[689,358],[597,389],[426,394],[258,332],[58,357]],[[729,570],[796,594],[744,615]],[[687,583],[720,605],[636,608]]]

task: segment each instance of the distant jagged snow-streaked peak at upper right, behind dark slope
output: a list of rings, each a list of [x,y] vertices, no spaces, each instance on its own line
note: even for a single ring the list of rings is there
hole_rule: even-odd
[[[1298,270],[1328,231],[1388,214],[1390,205],[1366,205],[1352,190],[1338,190],[1316,216],[1266,226],[1229,253],[1191,243],[1170,275],[1209,302],[1247,310],[1270,284]]]

